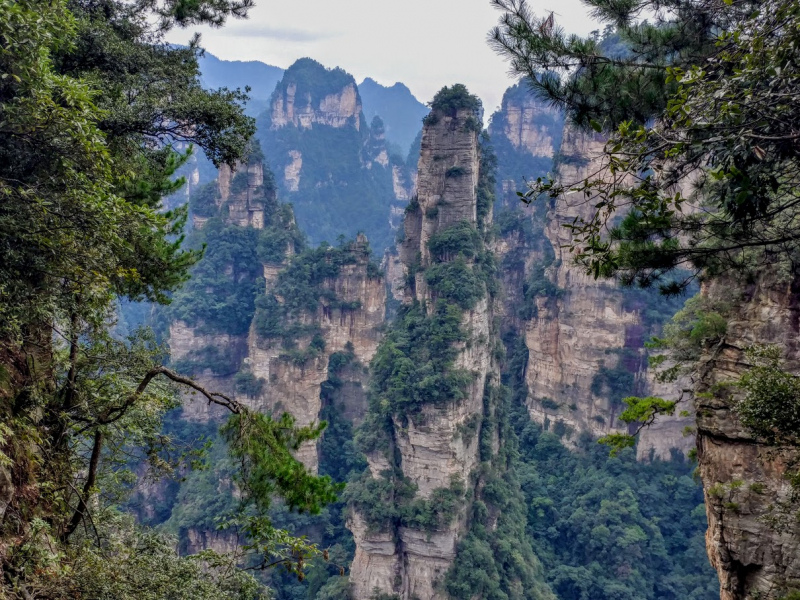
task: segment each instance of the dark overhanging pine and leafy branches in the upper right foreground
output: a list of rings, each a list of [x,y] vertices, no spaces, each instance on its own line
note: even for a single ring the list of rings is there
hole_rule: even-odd
[[[782,67],[798,44],[796,3],[693,4],[640,26],[632,17],[651,0],[592,1],[597,17],[618,25],[625,56],[608,54],[597,36],[567,38],[519,4],[498,4],[506,15],[495,47],[579,126],[610,134],[603,161],[615,177],[540,178],[524,195],[593,198],[594,214],[571,225],[587,272],[665,294],[700,275],[752,281],[768,265],[774,279],[795,276],[798,154],[786,136],[794,117],[774,98],[800,87],[798,73]],[[567,75],[576,62],[592,66]],[[676,193],[691,171],[691,192]],[[621,178],[642,173],[619,193]]]

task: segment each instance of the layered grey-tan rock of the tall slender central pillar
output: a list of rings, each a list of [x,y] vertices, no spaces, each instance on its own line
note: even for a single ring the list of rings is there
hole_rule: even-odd
[[[406,211],[400,260],[405,273],[414,273],[413,278],[403,278],[403,302],[428,315],[440,314],[437,307],[446,301],[445,292],[429,283],[435,281],[429,277],[430,270],[464,260],[464,254],[457,258],[459,253],[450,255],[441,246],[433,255],[431,240],[436,239],[438,244],[446,232],[453,232],[456,227],[463,228],[465,235],[473,231],[481,240],[478,232],[491,219],[490,214],[479,214],[478,208],[481,150],[478,129],[471,126],[475,121],[471,108],[450,113],[438,109],[434,102],[423,128],[418,192]],[[483,242],[477,243],[481,246],[479,252],[485,252]],[[471,264],[465,263],[465,268],[477,270],[472,263],[474,255],[467,255]],[[395,275],[394,279],[401,278]],[[448,306],[455,308],[453,304]],[[409,497],[390,500],[398,503],[401,514],[405,510],[401,505],[414,503],[433,502],[431,510],[445,510],[438,506],[437,498],[442,494],[454,494],[460,499],[434,526],[422,526],[409,518],[376,525],[356,503],[348,526],[356,541],[350,581],[358,600],[375,593],[396,594],[403,600],[447,597],[445,577],[457,557],[458,542],[468,531],[469,502],[464,499],[464,486],[471,488],[470,497],[480,496],[480,428],[486,410],[491,410],[489,382],[498,369],[493,353],[497,341],[493,295],[483,294],[462,309],[461,330],[468,341],[458,344],[448,368],[468,373],[468,383],[462,384],[463,391],[456,398],[422,399],[408,412],[394,410],[389,424],[391,440],[387,442],[390,449],[367,452],[369,474],[367,481],[360,484],[368,489],[371,478],[413,490]],[[446,374],[431,373],[434,376]],[[491,444],[495,450],[497,443],[494,439]]]

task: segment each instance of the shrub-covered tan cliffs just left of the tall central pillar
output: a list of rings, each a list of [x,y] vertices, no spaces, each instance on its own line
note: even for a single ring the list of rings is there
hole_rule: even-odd
[[[170,325],[173,363],[193,372],[200,383],[227,392],[254,409],[287,411],[300,425],[320,420],[320,386],[328,379],[330,356],[347,352],[353,364],[366,365],[380,338],[386,291],[383,279],[370,264],[366,237],[360,236],[346,248],[301,252],[302,237],[291,211],[278,204],[272,175],[268,173],[265,177],[260,160],[238,165],[235,171],[222,167],[216,195],[209,204],[213,210],[205,207],[205,214],[213,216],[203,221],[196,219],[195,225],[201,229],[199,234],[221,232],[220,239],[215,238],[214,247],[209,248],[208,257],[218,264],[210,269],[213,272],[206,273],[201,262],[196,277],[198,289],[190,289],[176,298],[173,310],[186,316]],[[220,246],[221,256],[216,254]],[[314,282],[313,290],[293,290],[297,294],[304,291],[312,294],[302,310],[291,316],[284,314],[285,298],[271,305],[271,310],[286,317],[283,325],[288,327],[291,322],[298,333],[291,339],[265,336],[258,321],[270,315],[265,316],[269,310],[262,311],[260,303],[264,300],[258,298],[286,294],[286,280],[291,279],[287,271],[292,270],[293,260],[302,263],[299,270],[322,269],[323,275]],[[324,265],[333,260],[343,264],[325,269]],[[243,265],[242,261],[250,264]],[[219,291],[201,289],[210,283],[204,282],[204,275],[220,286]],[[237,297],[231,311],[241,311],[248,304],[253,308],[237,319],[238,325],[231,325],[232,313],[227,311],[223,311],[219,323],[211,322],[213,313],[203,318],[203,292],[215,297]],[[351,368],[344,379],[341,387],[346,390],[343,398],[347,399],[348,410],[363,415],[366,412],[364,370]],[[336,402],[336,396],[330,400]],[[184,416],[207,422],[220,418],[222,412],[218,407],[195,401],[187,403]],[[298,456],[316,469],[315,446],[302,448]]]

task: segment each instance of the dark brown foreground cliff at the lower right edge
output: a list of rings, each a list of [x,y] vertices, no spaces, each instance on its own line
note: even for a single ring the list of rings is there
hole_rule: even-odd
[[[776,279],[764,276],[741,290],[727,333],[701,361],[695,385],[706,548],[722,600],[772,600],[800,588],[797,492],[787,477],[800,454],[767,445],[745,429],[731,409],[735,390],[731,397],[730,388],[719,388],[748,368],[744,350],[753,344],[780,347],[784,368],[800,371],[798,285]],[[703,294],[730,302],[732,289],[728,282],[715,282]]]

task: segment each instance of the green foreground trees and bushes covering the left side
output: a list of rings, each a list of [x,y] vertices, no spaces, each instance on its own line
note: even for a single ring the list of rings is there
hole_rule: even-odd
[[[249,6],[0,3],[3,598],[245,600],[266,591],[237,565],[297,572],[317,554],[265,512],[272,496],[312,512],[334,498],[332,482],[291,454],[320,430],[254,415],[166,368],[152,332],[128,327],[123,336],[114,323],[123,302],[167,304],[191,267],[203,271],[201,243],[183,248],[187,207],[162,202],[184,183],[176,173],[188,148],[233,165],[254,131],[243,93],[202,88],[196,41],[178,47],[166,36],[220,26]],[[208,190],[201,200],[199,211],[212,214]],[[209,264],[238,258],[253,241],[221,223],[206,233],[220,246]],[[228,266],[253,284],[249,267]],[[212,287],[222,285],[215,275],[204,274]],[[240,327],[246,294],[221,297]],[[223,326],[219,306],[201,309],[211,327]],[[237,557],[179,557],[170,538],[117,512],[142,473],[157,480],[202,458],[203,448],[184,452],[163,434],[187,390],[231,416],[223,449],[237,459]]]

